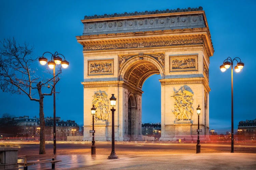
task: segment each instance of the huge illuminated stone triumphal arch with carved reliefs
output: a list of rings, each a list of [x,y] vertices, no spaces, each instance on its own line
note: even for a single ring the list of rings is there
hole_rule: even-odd
[[[202,7],[85,16],[77,41],[84,54],[84,138],[111,140],[111,94],[115,94],[115,139],[141,140],[142,85],[161,79],[161,140],[209,134],[211,35]],[[154,90],[154,89],[152,89]],[[154,99],[153,99],[154,100]],[[154,106],[152,106],[154,107]]]

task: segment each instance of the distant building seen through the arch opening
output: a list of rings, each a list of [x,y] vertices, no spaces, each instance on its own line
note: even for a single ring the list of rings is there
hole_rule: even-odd
[[[161,137],[161,123],[142,123],[142,135],[153,136],[155,140]]]

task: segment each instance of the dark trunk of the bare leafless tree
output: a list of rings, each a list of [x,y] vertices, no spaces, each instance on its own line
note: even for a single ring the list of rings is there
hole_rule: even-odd
[[[39,146],[39,154],[45,154],[45,122],[44,122],[44,96],[41,91],[41,84],[38,86],[38,93],[40,96],[39,100],[39,120],[40,120],[40,146]]]

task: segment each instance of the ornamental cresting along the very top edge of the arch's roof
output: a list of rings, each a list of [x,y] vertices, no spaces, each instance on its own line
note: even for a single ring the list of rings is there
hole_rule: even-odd
[[[110,17],[126,17],[126,16],[137,16],[137,15],[150,15],[150,14],[164,14],[164,13],[177,13],[177,12],[190,12],[190,11],[203,11],[203,7],[199,6],[198,8],[184,8],[184,9],[180,9],[177,8],[175,10],[156,10],[156,11],[145,11],[145,12],[134,12],[134,13],[122,13],[122,14],[104,14],[104,15],[94,15],[94,16],[84,16],[84,19],[96,19],[96,18],[110,18]]]

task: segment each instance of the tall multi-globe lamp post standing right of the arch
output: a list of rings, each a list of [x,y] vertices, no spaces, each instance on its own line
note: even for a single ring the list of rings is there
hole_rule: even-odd
[[[238,61],[239,60],[239,61]],[[233,122],[233,62],[236,61],[237,65],[234,67],[236,72],[240,72],[244,67],[244,63],[241,62],[239,57],[232,58],[228,57],[224,60],[223,64],[219,66],[222,72],[226,71],[231,66],[231,153],[234,152],[234,122]]]

